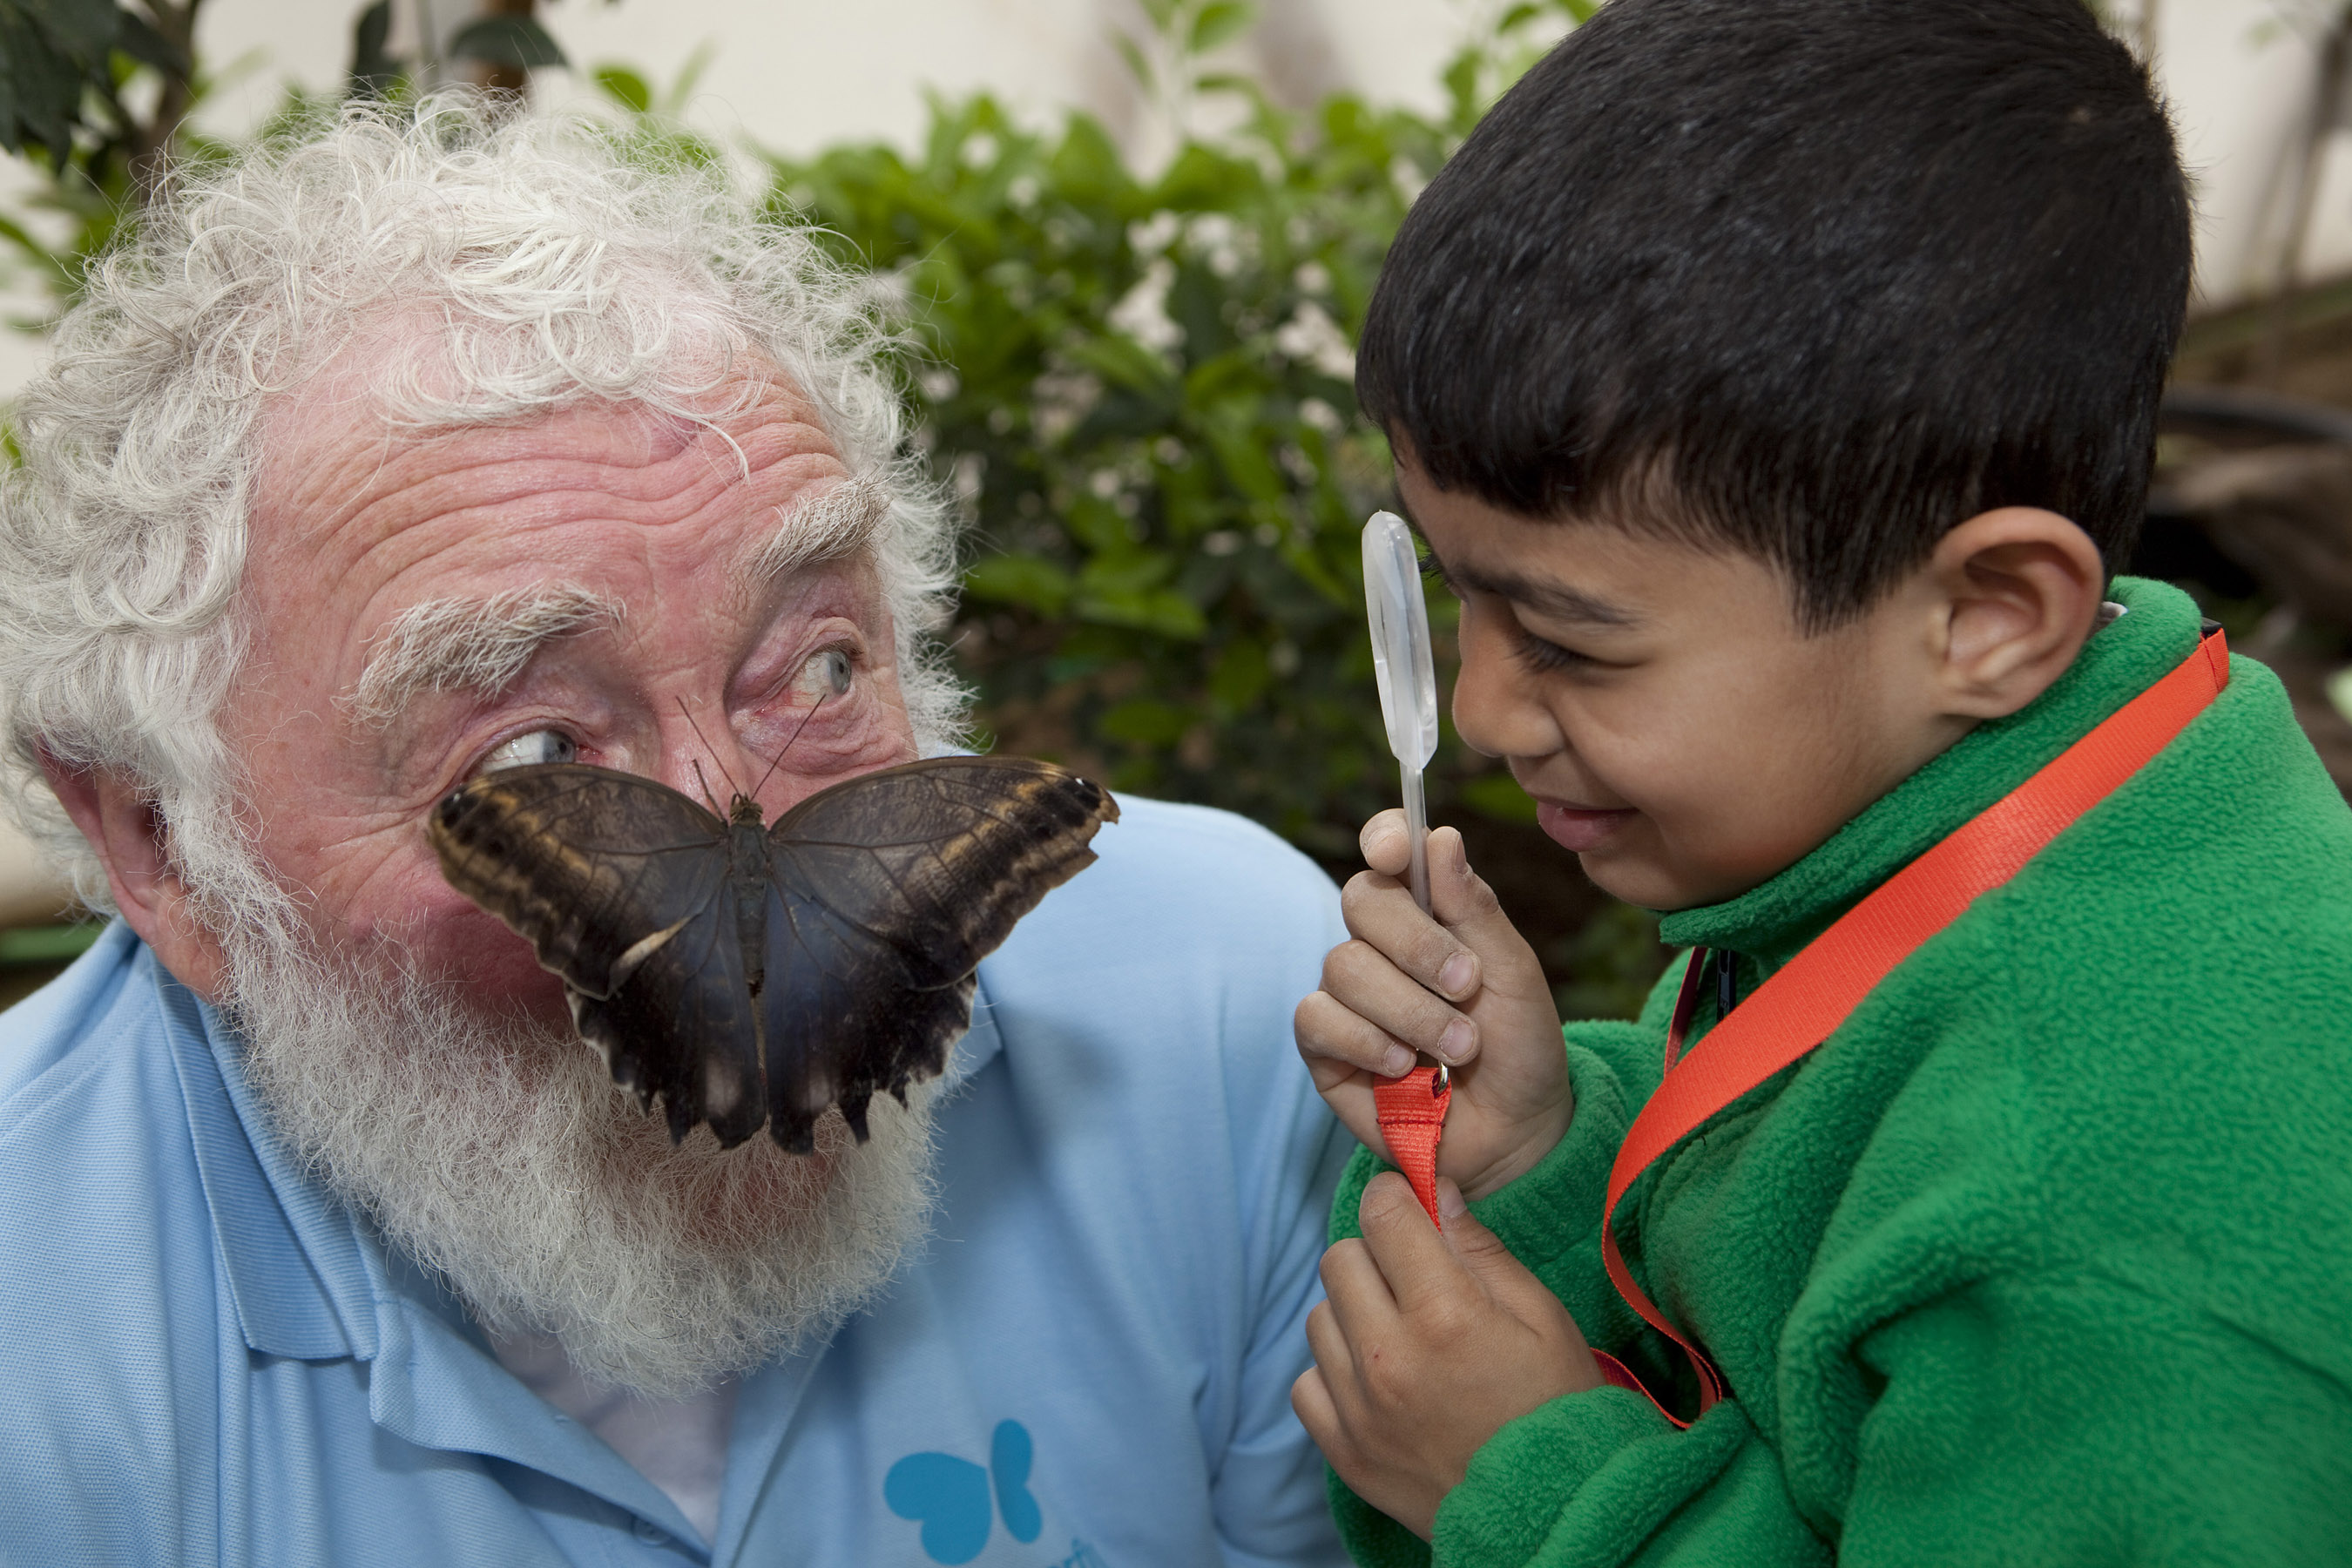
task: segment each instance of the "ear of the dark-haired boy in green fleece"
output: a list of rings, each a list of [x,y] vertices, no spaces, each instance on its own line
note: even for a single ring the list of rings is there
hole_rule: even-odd
[[[2091,536],[2034,505],[1959,524],[1924,576],[1938,609],[1938,705],[1966,719],[1999,719],[2042,696],[2074,663],[2107,592]]]

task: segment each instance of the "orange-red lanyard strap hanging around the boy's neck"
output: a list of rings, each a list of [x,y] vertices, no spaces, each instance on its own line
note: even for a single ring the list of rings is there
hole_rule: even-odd
[[[1896,964],[1959,919],[1978,896],[2018,875],[2074,818],[2138,773],[2227,684],[2230,649],[2213,630],[2164,679],[2124,703],[2011,795],[1846,910],[1729,1018],[1722,1018],[1708,1034],[1705,1051],[1684,1058],[1682,1037],[1696,1011],[1705,959],[1703,952],[1691,954],[1682,976],[1682,997],[1675,1001],[1675,1023],[1665,1037],[1665,1081],[1635,1117],[1625,1145],[1609,1168],[1609,1199],[1602,1204],[1602,1260],[1609,1265],[1609,1279],[1625,1305],[1691,1359],[1698,1371],[1700,1413],[1715,1406],[1729,1385],[1696,1338],[1677,1333],[1642,1293],[1642,1286],[1632,1281],[1611,1229],[1618,1199],[1651,1161],[1837,1032]],[[1595,1352],[1595,1359],[1609,1382],[1658,1403],[1616,1356]],[[1658,1408],[1677,1427],[1689,1425],[1665,1406]]]

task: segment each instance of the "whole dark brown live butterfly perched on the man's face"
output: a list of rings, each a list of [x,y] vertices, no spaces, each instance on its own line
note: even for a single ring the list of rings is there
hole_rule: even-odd
[[[931,757],[818,790],[774,827],[579,762],[508,766],[433,806],[442,875],[562,978],[581,1037],[673,1138],[816,1150],[837,1105],[936,1077],[974,966],[1094,863],[1120,806],[1023,757]]]

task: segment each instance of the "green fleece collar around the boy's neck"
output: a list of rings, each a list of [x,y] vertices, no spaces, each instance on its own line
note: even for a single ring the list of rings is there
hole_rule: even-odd
[[[1764,886],[1677,910],[1658,924],[1658,936],[1675,947],[1726,947],[1778,969],[1875,886],[2032,778],[2197,646],[2197,604],[2178,588],[2114,578],[2110,592],[2131,614],[2093,632],[2049,691],[1971,729]]]

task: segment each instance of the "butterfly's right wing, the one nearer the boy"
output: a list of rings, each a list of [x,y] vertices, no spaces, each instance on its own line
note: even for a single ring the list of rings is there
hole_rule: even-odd
[[[760,994],[776,1143],[811,1150],[828,1105],[863,1143],[877,1091],[936,1077],[971,1025],[971,971],[1115,820],[1108,790],[1023,757],[863,773],[779,818]]]

